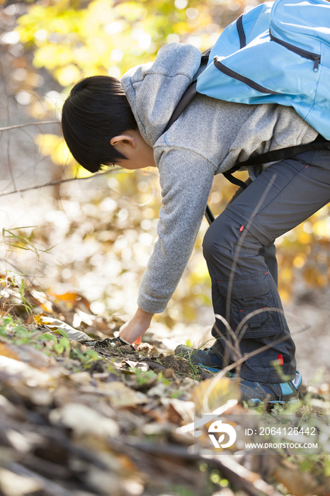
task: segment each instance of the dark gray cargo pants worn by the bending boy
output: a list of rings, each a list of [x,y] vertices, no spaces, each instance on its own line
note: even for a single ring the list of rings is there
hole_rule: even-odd
[[[270,345],[243,363],[240,376],[246,380],[283,382],[271,365],[282,358],[283,373],[295,378],[295,344],[288,324],[283,313],[266,310],[283,311],[273,242],[329,202],[330,152],[305,152],[263,171],[206,232],[203,252],[212,280],[215,314],[227,315],[236,332],[244,317],[263,309],[247,317],[239,333],[242,355]],[[229,356],[229,362],[234,360],[226,344],[226,339],[228,343],[233,338],[218,318],[212,335],[217,337],[223,355]],[[278,342],[284,337],[287,339]]]

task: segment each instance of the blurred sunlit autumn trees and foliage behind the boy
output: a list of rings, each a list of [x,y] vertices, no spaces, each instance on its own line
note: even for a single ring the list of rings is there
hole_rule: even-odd
[[[68,153],[59,124],[41,123],[60,120],[62,103],[82,77],[120,77],[154,60],[166,43],[205,50],[229,22],[258,3],[0,0],[1,127],[34,124],[1,132],[1,225],[19,238],[13,247],[4,232],[3,273],[25,274],[53,295],[81,293],[96,314],[135,312],[139,281],[157,235],[157,172],[115,169],[91,176]],[[74,178],[80,179],[70,181]],[[42,184],[56,185],[35,188]],[[235,189],[222,176],[215,178],[210,194],[215,215]],[[325,206],[278,239],[284,301],[306,284],[312,289],[328,285],[328,213]],[[206,229],[203,221],[183,279],[169,308],[157,317],[169,327],[211,322],[210,281],[201,252]]]

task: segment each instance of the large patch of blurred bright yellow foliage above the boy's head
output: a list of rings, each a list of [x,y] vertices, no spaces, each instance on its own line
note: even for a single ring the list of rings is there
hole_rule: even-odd
[[[188,13],[194,9],[198,16],[191,18]],[[108,74],[115,49],[125,54],[115,60],[123,74],[137,63],[154,60],[172,33],[202,50],[215,42],[207,30],[214,20],[205,0],[190,0],[188,9],[176,9],[173,0],[94,0],[81,9],[57,1],[31,5],[18,23],[21,42],[34,47],[35,67],[48,69],[62,86],[72,85],[82,73]]]

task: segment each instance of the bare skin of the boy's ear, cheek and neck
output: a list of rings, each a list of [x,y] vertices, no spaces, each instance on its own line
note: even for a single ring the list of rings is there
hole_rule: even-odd
[[[118,152],[127,157],[117,159],[116,164],[124,169],[135,170],[145,167],[157,167],[154,162],[154,150],[149,146],[138,130],[128,130],[122,135],[113,137],[110,140]]]

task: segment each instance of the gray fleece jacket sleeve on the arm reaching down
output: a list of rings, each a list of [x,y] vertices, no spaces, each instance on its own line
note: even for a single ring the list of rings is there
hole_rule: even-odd
[[[163,151],[158,160],[162,207],[158,237],[137,300],[145,312],[165,310],[193,251],[215,167],[190,150]]]

